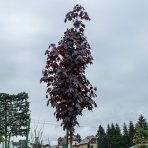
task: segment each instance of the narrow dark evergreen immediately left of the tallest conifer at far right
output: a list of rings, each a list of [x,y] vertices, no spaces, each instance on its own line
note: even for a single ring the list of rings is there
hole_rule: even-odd
[[[135,128],[134,128],[134,124],[132,121],[129,122],[129,127],[128,127],[128,131],[129,131],[129,146],[132,146],[134,145],[133,143],[133,137],[134,137],[134,134],[135,134]]]

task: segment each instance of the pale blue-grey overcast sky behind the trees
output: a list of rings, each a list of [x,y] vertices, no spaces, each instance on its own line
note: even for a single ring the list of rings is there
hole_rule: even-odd
[[[44,126],[43,140],[64,136],[54,109],[46,106],[46,84],[40,84],[44,52],[67,28],[65,15],[76,4],[91,21],[85,35],[93,65],[87,78],[98,88],[98,108],[84,111],[76,133],[95,135],[108,123],[148,119],[148,1],[147,0],[0,0],[0,92],[29,93],[31,126]]]

